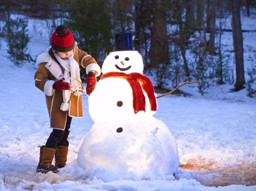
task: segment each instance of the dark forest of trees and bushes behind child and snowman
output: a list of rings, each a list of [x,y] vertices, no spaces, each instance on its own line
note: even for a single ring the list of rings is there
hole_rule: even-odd
[[[154,76],[156,89],[199,80],[202,95],[211,85],[233,84],[232,91],[246,88],[247,96],[255,97],[256,50],[250,49],[253,64],[245,72],[243,33],[256,31],[241,28],[241,13],[250,17],[255,7],[254,0],[1,0],[5,24],[0,37],[7,41],[9,59],[22,67],[36,57],[28,51],[26,17],[11,15],[46,20],[49,37],[65,24],[79,48],[102,65],[114,51],[114,35],[131,32],[134,50],[141,53],[146,73]],[[225,32],[232,32],[233,47],[222,43]]]

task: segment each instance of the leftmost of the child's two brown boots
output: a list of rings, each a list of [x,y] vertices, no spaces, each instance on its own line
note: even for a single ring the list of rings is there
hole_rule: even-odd
[[[36,172],[47,173],[52,171],[53,173],[59,172],[57,167],[52,165],[52,160],[55,155],[55,148],[41,147],[40,148],[40,160]]]

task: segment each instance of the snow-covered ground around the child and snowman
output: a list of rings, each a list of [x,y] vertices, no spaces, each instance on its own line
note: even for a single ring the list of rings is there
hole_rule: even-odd
[[[36,27],[38,23],[30,20],[32,56],[48,47],[46,28],[43,22]],[[246,26],[256,29],[255,24]],[[245,44],[256,40],[255,32],[246,34]],[[5,41],[0,40],[1,191],[256,190],[256,100],[246,97],[245,89],[230,93],[230,85],[216,86],[204,97],[193,85],[186,85],[181,90],[193,97],[159,98],[154,116],[170,128],[179,150],[181,166],[175,177],[115,180],[86,174],[76,162],[82,140],[93,124],[85,95],[85,117],[72,122],[67,167],[57,174],[36,173],[39,147],[51,132],[44,94],[34,86],[34,65],[14,67],[6,58]]]

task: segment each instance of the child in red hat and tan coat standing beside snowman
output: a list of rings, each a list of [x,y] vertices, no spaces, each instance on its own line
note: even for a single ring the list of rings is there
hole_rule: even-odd
[[[40,148],[36,172],[59,172],[67,162],[68,135],[72,117],[83,117],[82,83],[79,65],[86,69],[86,94],[96,86],[101,69],[96,60],[77,47],[71,31],[58,26],[51,36],[51,47],[36,60],[35,86],[46,95],[53,128],[45,146]],[[55,166],[52,165],[55,156]]]

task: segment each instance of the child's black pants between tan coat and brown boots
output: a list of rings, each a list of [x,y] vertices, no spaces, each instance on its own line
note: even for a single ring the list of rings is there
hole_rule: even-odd
[[[45,147],[50,147],[50,148],[56,148],[58,146],[66,146],[68,147],[68,135],[69,135],[69,128],[71,125],[72,117],[69,117],[67,115],[67,123],[65,126],[65,130],[57,130],[53,129],[51,134],[49,135],[49,138],[46,142]]]

